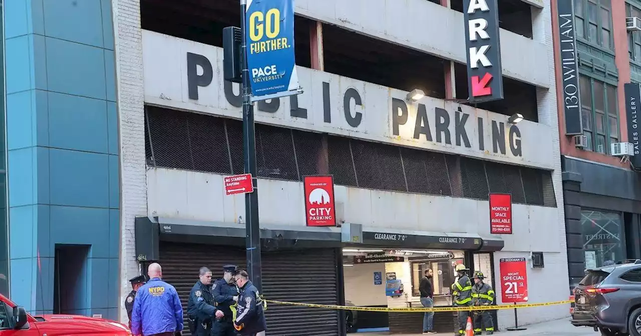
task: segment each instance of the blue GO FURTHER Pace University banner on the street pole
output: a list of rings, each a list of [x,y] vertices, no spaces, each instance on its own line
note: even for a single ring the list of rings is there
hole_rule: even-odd
[[[247,0],[245,19],[251,100],[303,92],[294,54],[294,0]]]

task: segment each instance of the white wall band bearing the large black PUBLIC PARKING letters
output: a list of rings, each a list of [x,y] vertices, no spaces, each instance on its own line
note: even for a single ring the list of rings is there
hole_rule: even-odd
[[[424,0],[421,1],[428,3]],[[199,44],[153,31],[143,31],[142,42],[145,102],[174,109],[226,116],[228,118],[242,118],[241,109],[232,106],[224,94],[222,48]],[[213,68],[212,83],[198,88],[199,99],[197,100],[190,99],[188,96],[187,52],[205,56]],[[395,132],[393,120],[401,112],[392,108],[392,100],[399,99],[402,104],[405,104],[404,100],[408,92],[304,67],[297,67],[297,74],[299,82],[304,88],[304,93],[298,95],[298,106],[299,108],[307,109],[307,118],[291,116],[290,100],[283,98],[280,99],[280,106],[276,113],[263,112],[258,108],[254,109],[256,111],[256,122],[297,129],[309,129],[537,168],[551,169],[554,167],[554,163],[559,161],[559,157],[553,156],[549,150],[552,146],[553,134],[558,132],[556,132],[556,129],[542,123],[528,120],[520,122],[515,126],[520,131],[519,136],[510,141],[508,134],[510,134],[512,125],[507,122],[508,116],[442,99],[424,97],[417,103],[406,104],[408,108],[406,122],[398,125],[398,130]],[[323,82],[329,83],[331,122],[324,120]],[[347,107],[348,113],[351,113],[351,115],[360,113],[362,116],[362,122],[355,127],[349,125],[345,118],[344,93],[349,88],[355,89],[362,99],[362,106],[356,106],[354,100],[351,100],[350,106]],[[425,135],[420,135],[417,139],[413,138],[415,125],[417,125],[418,104],[424,104],[426,108],[431,140],[428,140]],[[438,142],[436,108],[445,109],[448,113],[448,130],[451,135],[449,144],[445,143],[447,142],[445,140]],[[464,128],[469,140],[469,147],[465,146],[462,139],[456,145],[454,123],[457,109],[461,109],[461,115],[467,115],[467,122],[465,122]],[[482,128],[478,126],[478,118],[482,120]],[[491,134],[493,122],[496,125],[502,125],[499,127],[503,129],[505,134],[503,142],[505,145],[504,154],[499,150],[494,150]],[[483,141],[479,140],[479,134],[481,134]],[[519,146],[517,141],[520,141],[520,148],[522,149],[522,154],[520,155],[510,149],[512,144]],[[479,143],[484,145],[481,146]]]

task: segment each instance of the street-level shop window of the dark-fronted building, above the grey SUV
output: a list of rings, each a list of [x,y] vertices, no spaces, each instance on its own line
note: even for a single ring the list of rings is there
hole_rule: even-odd
[[[605,262],[624,259],[621,214],[595,210],[581,211],[581,232],[585,268],[601,267]]]

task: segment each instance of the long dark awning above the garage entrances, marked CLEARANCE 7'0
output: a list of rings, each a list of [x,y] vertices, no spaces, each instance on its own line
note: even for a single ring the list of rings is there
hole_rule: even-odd
[[[139,259],[157,254],[159,241],[194,244],[244,246],[245,228],[238,223],[194,221],[178,218],[136,218],[136,250]],[[499,251],[500,239],[484,239],[470,234],[412,232],[374,232],[363,230],[362,244],[341,242],[340,228],[294,227],[269,225],[261,228],[262,248],[266,251],[283,248],[338,248],[341,246],[385,246],[403,248],[433,248],[442,250]],[[156,252],[154,252],[156,251]]]

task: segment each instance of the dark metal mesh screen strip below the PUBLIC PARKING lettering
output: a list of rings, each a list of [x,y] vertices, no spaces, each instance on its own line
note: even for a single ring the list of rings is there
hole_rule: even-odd
[[[242,122],[146,107],[147,164],[221,174],[244,172]],[[331,174],[360,188],[556,207],[551,173],[469,157],[256,124],[258,176],[302,180]]]

